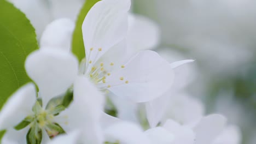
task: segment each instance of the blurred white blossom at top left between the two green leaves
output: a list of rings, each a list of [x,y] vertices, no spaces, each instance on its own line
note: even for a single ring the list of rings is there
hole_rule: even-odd
[[[26,14],[40,38],[45,26],[51,21],[68,17],[75,21],[85,0],[9,0]]]

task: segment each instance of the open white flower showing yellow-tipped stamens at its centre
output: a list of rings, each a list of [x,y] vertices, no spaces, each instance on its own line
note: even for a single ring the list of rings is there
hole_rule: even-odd
[[[126,60],[129,8],[130,0],[103,0],[91,8],[82,27],[86,58],[80,74],[90,77],[98,89],[144,102],[167,91],[172,68],[153,51],[142,51]]]

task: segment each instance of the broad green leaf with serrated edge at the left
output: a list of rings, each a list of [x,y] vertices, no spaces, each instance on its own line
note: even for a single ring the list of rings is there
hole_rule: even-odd
[[[31,81],[24,63],[36,49],[36,33],[25,14],[0,0],[0,109],[16,89]]]

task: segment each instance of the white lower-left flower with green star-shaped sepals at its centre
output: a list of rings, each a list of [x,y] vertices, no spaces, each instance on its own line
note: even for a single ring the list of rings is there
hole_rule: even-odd
[[[59,20],[52,24],[63,27],[62,25],[66,25],[65,22],[70,23],[67,20]],[[57,32],[59,29],[56,36]],[[61,34],[67,34],[67,37],[70,35],[69,31],[64,32]],[[104,97],[86,77],[77,77],[78,61],[69,52],[67,45],[62,47],[61,42],[66,40],[62,38],[65,37],[57,38],[60,39],[59,44],[44,41],[42,45],[47,46],[41,47],[27,57],[27,74],[37,84],[39,92],[37,93],[32,83],[28,83],[18,89],[4,105],[0,112],[0,129],[7,129],[7,132],[2,143],[26,143],[27,134],[29,140],[45,143],[50,140],[49,136],[68,133],[78,128],[86,128],[83,129],[86,141],[103,141],[98,136],[98,123],[102,115]],[[63,98],[59,96],[65,94],[73,83],[73,102],[66,109],[62,105]],[[42,98],[42,103],[38,98]],[[91,131],[95,132],[94,135]]]

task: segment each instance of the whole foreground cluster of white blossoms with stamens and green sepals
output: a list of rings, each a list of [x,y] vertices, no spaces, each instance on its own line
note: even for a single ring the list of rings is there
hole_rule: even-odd
[[[149,50],[158,41],[148,33],[154,25],[130,14],[130,5],[102,0],[90,9],[81,62],[71,52],[72,20],[45,28],[40,49],[25,62],[33,83],[19,88],[0,112],[3,144],[240,142],[235,125],[205,115],[199,100],[177,90],[176,68],[193,60],[169,63]]]

